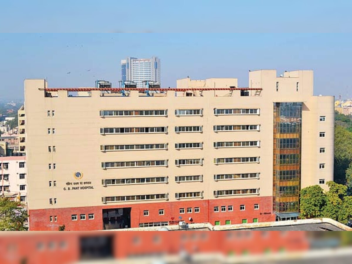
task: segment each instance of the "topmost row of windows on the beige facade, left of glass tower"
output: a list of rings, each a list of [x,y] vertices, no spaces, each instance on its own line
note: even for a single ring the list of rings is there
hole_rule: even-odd
[[[55,111],[52,111],[52,116]],[[217,109],[214,108],[214,115],[246,115],[246,114],[259,114],[258,108],[227,108]],[[167,116],[168,110],[101,110],[100,117],[118,117],[118,116]],[[176,109],[176,116],[183,115],[203,115],[203,109]],[[50,111],[48,111],[48,117]]]

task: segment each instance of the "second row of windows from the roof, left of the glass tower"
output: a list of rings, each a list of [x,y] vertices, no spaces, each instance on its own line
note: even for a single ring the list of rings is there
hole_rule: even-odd
[[[220,125],[213,126],[214,132],[221,131],[260,131],[260,125]],[[203,132],[203,126],[175,126],[176,133]],[[52,128],[55,134],[55,128]],[[168,133],[167,126],[158,127],[104,127],[100,128],[100,134],[126,134],[126,133]],[[48,128],[50,134],[50,128]]]

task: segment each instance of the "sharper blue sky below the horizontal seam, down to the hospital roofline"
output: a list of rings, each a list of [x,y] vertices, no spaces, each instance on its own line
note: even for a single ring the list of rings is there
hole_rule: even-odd
[[[162,58],[163,87],[187,76],[238,78],[247,87],[248,70],[312,69],[316,95],[352,97],[350,34],[0,34],[0,47],[0,101],[23,99],[25,78],[46,78],[51,87],[94,87],[99,79],[118,87],[127,56]]]

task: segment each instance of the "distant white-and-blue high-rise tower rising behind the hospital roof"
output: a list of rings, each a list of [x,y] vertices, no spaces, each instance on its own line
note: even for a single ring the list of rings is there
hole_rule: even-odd
[[[160,59],[138,59],[128,57],[121,60],[122,81],[133,81],[137,87],[143,87],[143,81],[160,82]]]

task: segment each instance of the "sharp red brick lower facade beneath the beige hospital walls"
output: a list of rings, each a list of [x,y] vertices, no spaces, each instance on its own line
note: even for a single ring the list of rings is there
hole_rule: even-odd
[[[244,206],[244,210],[241,210],[243,209],[241,205]],[[259,208],[255,209],[254,205],[259,205]],[[275,221],[275,214],[272,213],[272,196],[267,196],[198,201],[181,200],[176,202],[131,203],[130,205],[119,205],[115,203],[114,205],[104,206],[29,210],[30,230],[57,231],[58,227],[61,225],[65,225],[65,230],[70,231],[102,230],[103,209],[128,207],[131,208],[131,227],[139,227],[142,223],[153,222],[175,224],[176,221],[179,220],[186,221],[187,223],[210,222],[212,225]],[[215,212],[216,209],[214,210],[214,207],[218,207],[218,212]],[[180,213],[181,208],[184,208],[184,213]],[[199,212],[196,212],[195,208],[199,208]],[[159,210],[161,209],[164,210],[163,215],[159,215]],[[145,210],[148,210],[147,216],[144,215]],[[191,211],[191,213],[188,213],[188,211]],[[85,220],[80,219],[81,214],[85,215]],[[94,214],[94,219],[89,219],[89,214]],[[72,220],[72,215],[77,215],[77,220]]]

